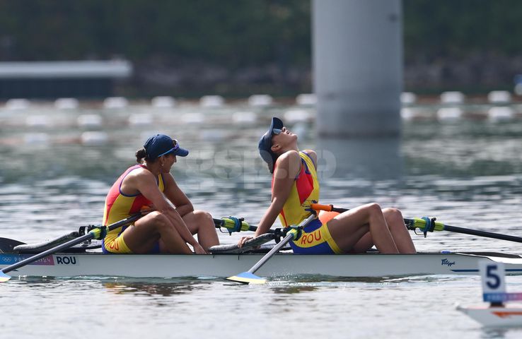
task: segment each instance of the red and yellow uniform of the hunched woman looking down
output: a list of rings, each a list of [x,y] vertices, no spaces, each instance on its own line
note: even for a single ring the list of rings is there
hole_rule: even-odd
[[[103,225],[110,225],[114,222],[129,217],[134,213],[138,213],[143,206],[151,206],[151,201],[145,198],[141,193],[135,195],[127,195],[121,191],[122,182],[130,172],[134,169],[146,168],[144,165],[134,165],[129,167],[116,180],[105,198],[105,208],[103,210]],[[158,177],[158,189],[163,192],[163,177]],[[127,244],[120,235],[127,226],[119,227],[107,233],[102,241],[102,249],[105,253],[132,253]]]

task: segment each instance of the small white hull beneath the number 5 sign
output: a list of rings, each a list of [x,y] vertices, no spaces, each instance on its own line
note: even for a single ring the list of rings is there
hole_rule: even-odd
[[[457,309],[484,326],[522,326],[522,305],[510,305],[509,307],[458,306]]]

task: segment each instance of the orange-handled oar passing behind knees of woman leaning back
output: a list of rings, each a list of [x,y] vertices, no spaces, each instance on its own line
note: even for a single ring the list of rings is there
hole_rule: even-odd
[[[312,208],[314,210],[327,210],[339,213],[347,211],[347,208],[337,208],[332,205],[320,205],[318,203],[313,203]],[[445,225],[442,222],[436,222],[434,218],[405,218],[404,222],[408,230],[415,230],[416,228],[418,228],[419,230],[424,232],[424,235],[426,235],[427,232],[448,231],[455,233],[477,235],[479,237],[508,240],[510,242],[522,242],[522,237],[514,237],[512,235],[507,234],[499,234],[480,230],[470,230],[469,228]]]

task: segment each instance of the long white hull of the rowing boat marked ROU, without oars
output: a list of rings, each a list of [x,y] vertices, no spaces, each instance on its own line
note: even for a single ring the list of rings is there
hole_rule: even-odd
[[[102,254],[57,253],[11,271],[18,277],[228,277],[248,270],[262,258],[248,254]],[[0,253],[0,269],[31,254]],[[267,277],[393,277],[407,275],[478,275],[478,261],[504,263],[506,273],[522,274],[522,257],[493,252],[421,252],[417,254],[296,255],[279,253],[260,268]]]

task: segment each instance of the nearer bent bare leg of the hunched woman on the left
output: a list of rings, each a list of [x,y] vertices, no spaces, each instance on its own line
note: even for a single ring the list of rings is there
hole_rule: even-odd
[[[175,226],[158,211],[151,212],[127,227],[122,234],[125,244],[137,254],[149,253],[161,241],[162,252],[192,254]]]

